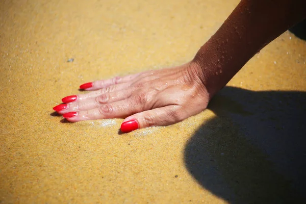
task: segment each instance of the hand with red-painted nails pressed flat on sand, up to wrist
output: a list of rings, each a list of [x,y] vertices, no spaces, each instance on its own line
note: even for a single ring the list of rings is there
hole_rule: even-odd
[[[125,118],[122,132],[180,122],[207,108],[209,94],[195,63],[81,85],[56,107],[70,122]]]

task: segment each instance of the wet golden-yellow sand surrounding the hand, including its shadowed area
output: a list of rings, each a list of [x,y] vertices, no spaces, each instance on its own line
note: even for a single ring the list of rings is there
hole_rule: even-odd
[[[52,111],[85,82],[190,61],[238,2],[2,1],[0,202],[305,199],[306,42],[289,32],[177,124],[120,135]]]

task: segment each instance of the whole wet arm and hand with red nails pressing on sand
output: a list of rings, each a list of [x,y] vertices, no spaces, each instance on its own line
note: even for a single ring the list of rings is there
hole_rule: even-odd
[[[54,107],[70,122],[125,118],[122,132],[180,122],[210,99],[265,45],[306,17],[306,0],[242,0],[195,58],[182,66],[81,85]]]

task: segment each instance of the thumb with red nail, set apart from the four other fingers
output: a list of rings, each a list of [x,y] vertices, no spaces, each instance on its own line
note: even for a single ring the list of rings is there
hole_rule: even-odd
[[[120,130],[123,133],[129,133],[144,127],[174,124],[185,118],[187,115],[181,106],[171,105],[131,115],[123,120]]]

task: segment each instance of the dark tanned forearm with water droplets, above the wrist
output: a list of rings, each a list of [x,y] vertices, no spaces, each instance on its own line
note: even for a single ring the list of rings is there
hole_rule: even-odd
[[[305,0],[242,0],[193,60],[210,97],[260,49],[305,17]]]

